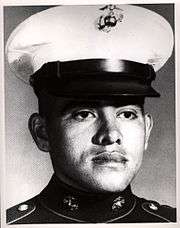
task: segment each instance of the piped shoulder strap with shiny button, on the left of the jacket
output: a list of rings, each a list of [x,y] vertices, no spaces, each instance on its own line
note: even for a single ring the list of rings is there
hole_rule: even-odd
[[[11,224],[28,215],[36,209],[36,197],[27,200],[23,203],[17,204],[6,211],[6,222]]]

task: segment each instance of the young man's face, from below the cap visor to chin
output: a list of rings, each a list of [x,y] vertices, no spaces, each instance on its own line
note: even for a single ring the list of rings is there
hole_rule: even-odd
[[[46,119],[56,175],[87,191],[123,191],[142,162],[151,118],[139,105],[54,102]]]

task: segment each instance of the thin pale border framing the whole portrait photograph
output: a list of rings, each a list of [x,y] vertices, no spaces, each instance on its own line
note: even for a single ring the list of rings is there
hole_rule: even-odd
[[[1,145],[0,149],[2,151],[1,153],[1,225],[2,227],[9,227],[9,225],[6,224],[5,221],[5,188],[4,188],[4,177],[5,177],[5,97],[4,97],[4,41],[3,41],[3,34],[4,34],[4,23],[3,23],[3,6],[18,6],[18,5],[60,5],[60,4],[66,4],[66,5],[80,5],[80,4],[160,4],[160,3],[174,3],[175,4],[175,68],[176,68],[176,73],[175,73],[175,85],[176,85],[176,205],[177,205],[177,223],[173,224],[157,224],[157,223],[133,223],[133,224],[38,224],[38,225],[32,225],[32,224],[23,224],[23,225],[13,225],[13,227],[79,227],[79,226],[85,226],[85,227],[104,227],[104,226],[111,226],[111,227],[179,227],[180,225],[180,213],[179,213],[179,208],[180,208],[180,197],[178,195],[178,192],[180,190],[180,182],[179,180],[179,164],[180,164],[180,156],[178,154],[179,148],[180,148],[180,140],[179,140],[179,134],[180,134],[180,91],[179,91],[179,86],[180,86],[180,66],[178,65],[178,60],[179,60],[179,51],[180,50],[180,42],[179,40],[179,34],[180,34],[180,3],[178,0],[121,0],[120,1],[104,1],[104,0],[3,0],[1,1],[0,5],[0,32],[2,34],[1,37],[1,65],[0,65],[0,107],[2,107],[2,112],[0,115],[0,140],[1,140]],[[179,21],[179,22],[178,22]]]

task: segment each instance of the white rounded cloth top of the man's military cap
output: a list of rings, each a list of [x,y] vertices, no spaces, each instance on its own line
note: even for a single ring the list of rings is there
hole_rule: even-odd
[[[53,61],[120,59],[150,64],[157,71],[172,49],[169,23],[134,5],[53,7],[22,22],[6,45],[10,68],[26,82]]]

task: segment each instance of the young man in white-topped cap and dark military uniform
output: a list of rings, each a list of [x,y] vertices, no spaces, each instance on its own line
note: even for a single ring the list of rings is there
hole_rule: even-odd
[[[9,224],[176,221],[130,187],[153,125],[144,99],[159,96],[151,82],[172,48],[168,22],[130,5],[54,7],[12,33],[10,68],[38,97],[29,129],[54,175]]]

